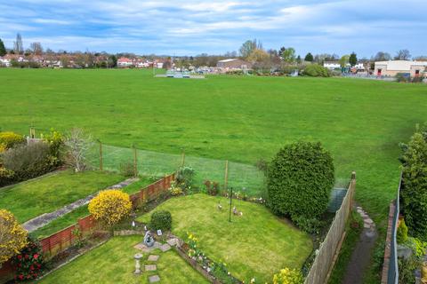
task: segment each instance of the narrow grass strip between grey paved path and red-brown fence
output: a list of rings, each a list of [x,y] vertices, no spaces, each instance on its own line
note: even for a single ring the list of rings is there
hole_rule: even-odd
[[[133,194],[141,190],[141,188],[152,183],[152,179],[149,177],[140,177],[140,180],[134,182],[130,185],[125,186],[122,191],[128,194]],[[89,215],[89,210],[87,209],[87,205],[82,206],[78,209],[75,209],[68,214],[59,217],[53,220],[48,225],[34,231],[31,233],[37,239],[43,239],[47,236],[50,236],[52,233],[56,233],[62,229],[67,228],[70,225],[74,225],[77,223],[79,218],[83,218]]]

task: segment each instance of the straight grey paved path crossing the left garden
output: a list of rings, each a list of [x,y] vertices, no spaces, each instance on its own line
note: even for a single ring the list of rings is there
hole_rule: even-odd
[[[124,181],[122,181],[121,183],[117,184],[117,185],[112,185],[107,187],[107,189],[110,188],[123,188],[127,185],[130,185],[132,183],[134,183],[135,181],[137,181],[139,178],[128,178]],[[85,197],[84,199],[75,201],[71,204],[68,204],[64,207],[62,207],[61,209],[58,209],[56,211],[50,212],[50,213],[44,213],[38,217],[32,218],[31,220],[28,220],[27,222],[25,222],[23,224],[23,227],[29,232],[34,232],[37,229],[43,227],[44,225],[48,225],[49,223],[51,223],[54,219],[59,218],[64,216],[65,214],[68,214],[69,212],[82,207],[84,205],[86,205],[87,203],[89,203],[89,201],[91,201],[93,199],[93,197],[96,196],[96,194],[98,193],[93,193],[87,197]]]

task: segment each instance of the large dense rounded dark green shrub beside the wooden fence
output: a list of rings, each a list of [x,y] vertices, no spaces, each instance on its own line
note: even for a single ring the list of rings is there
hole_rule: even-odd
[[[320,143],[297,142],[270,162],[268,206],[280,216],[318,218],[334,186],[334,163]]]

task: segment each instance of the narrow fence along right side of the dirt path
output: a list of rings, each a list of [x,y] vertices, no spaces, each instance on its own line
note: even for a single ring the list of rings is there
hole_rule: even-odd
[[[400,175],[398,196],[391,201],[389,209],[389,221],[387,225],[387,237],[385,239],[382,284],[399,283],[398,243],[396,235],[399,226],[400,191],[402,190],[402,176]]]

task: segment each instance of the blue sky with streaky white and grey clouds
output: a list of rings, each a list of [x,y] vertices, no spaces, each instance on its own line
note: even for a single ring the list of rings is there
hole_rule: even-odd
[[[0,38],[11,48],[196,55],[238,51],[246,39],[298,54],[408,49],[427,55],[425,0],[0,0]]]

